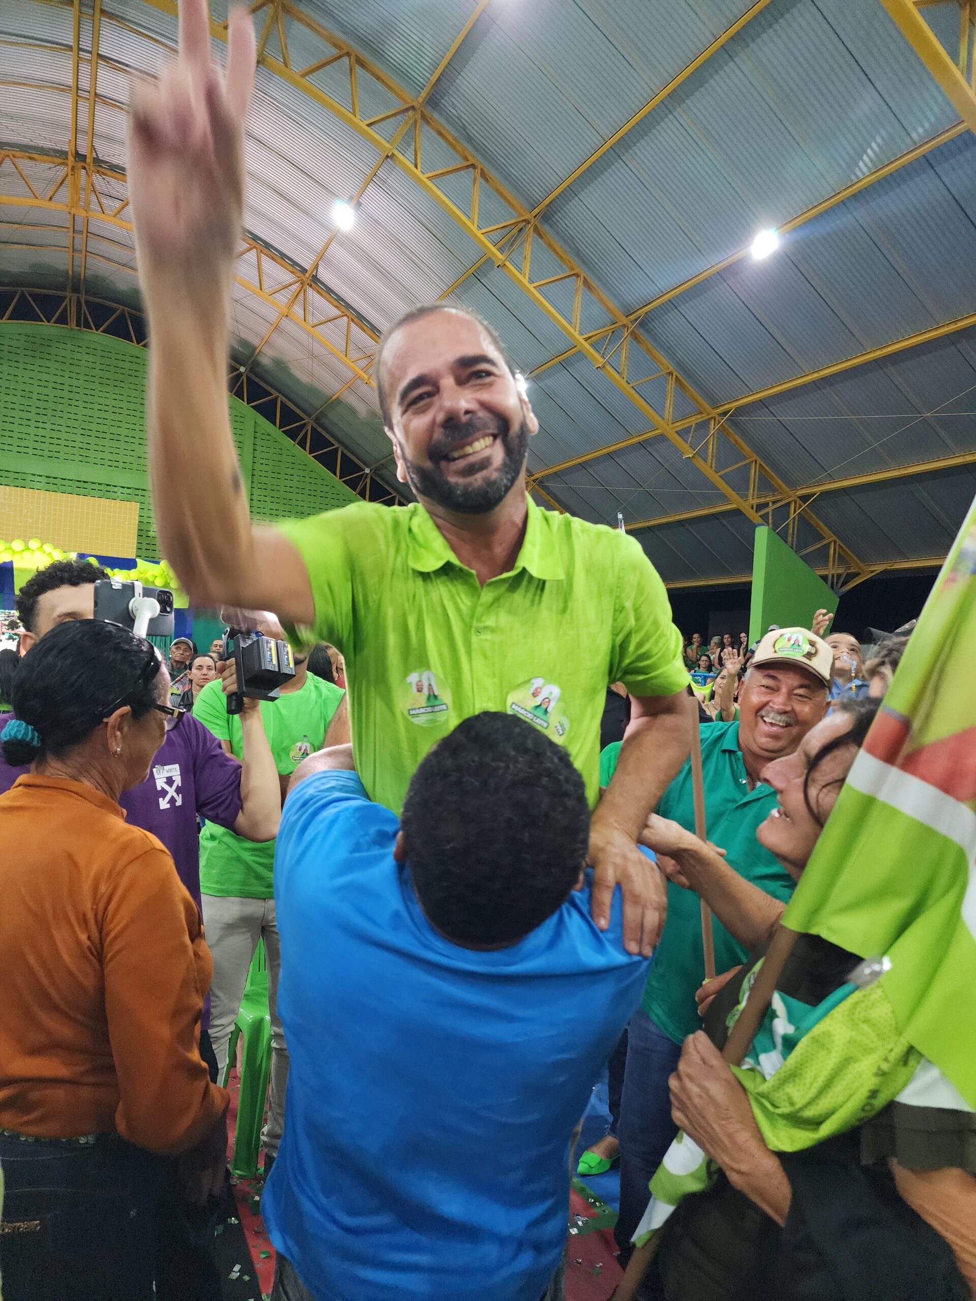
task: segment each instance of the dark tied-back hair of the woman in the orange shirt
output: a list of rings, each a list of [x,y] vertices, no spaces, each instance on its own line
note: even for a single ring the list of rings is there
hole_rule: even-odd
[[[142,718],[156,700],[163,666],[156,648],[117,623],[59,623],[23,657],[13,679],[14,717],[38,734],[3,742],[4,758],[21,768],[81,744],[109,709],[129,705]],[[9,725],[8,725],[9,726]]]

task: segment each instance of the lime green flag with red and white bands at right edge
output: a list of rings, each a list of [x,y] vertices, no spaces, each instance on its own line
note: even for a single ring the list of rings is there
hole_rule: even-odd
[[[783,916],[861,958],[976,1106],[976,502]]]

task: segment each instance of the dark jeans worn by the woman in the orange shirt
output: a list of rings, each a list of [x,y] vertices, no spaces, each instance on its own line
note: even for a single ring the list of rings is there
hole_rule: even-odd
[[[0,1134],[7,1301],[152,1301],[161,1158],[115,1134]]]

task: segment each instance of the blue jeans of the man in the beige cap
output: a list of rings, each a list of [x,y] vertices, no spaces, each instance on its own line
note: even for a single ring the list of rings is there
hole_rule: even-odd
[[[621,1095],[621,1213],[614,1229],[621,1263],[630,1257],[630,1240],[647,1210],[651,1176],[678,1132],[671,1120],[668,1077],[679,1056],[681,1043],[638,1008],[627,1025],[627,1067]]]

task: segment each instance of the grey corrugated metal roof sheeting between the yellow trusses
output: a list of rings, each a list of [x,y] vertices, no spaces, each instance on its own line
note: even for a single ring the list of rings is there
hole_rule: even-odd
[[[416,95],[472,7],[474,0],[405,0],[397,7],[359,0],[351,8],[338,0],[305,0],[302,13],[350,40],[405,94]],[[531,206],[746,8],[747,0],[492,4],[428,107],[521,203]],[[951,8],[924,10],[950,48],[955,36],[946,10]],[[225,9],[221,0],[215,17]],[[301,22],[288,18],[285,31],[294,68],[321,57],[319,38]],[[83,5],[82,49],[90,39]],[[4,88],[0,139],[22,150],[64,151],[70,120],[70,4],[7,0],[0,42],[7,42],[0,43],[0,79],[36,83]],[[125,161],[129,69],[152,72],[174,42],[172,16],[142,0],[115,0],[103,12],[95,114],[99,161],[118,167]],[[30,43],[46,48],[27,48]],[[219,43],[215,48],[223,57]],[[275,30],[267,48],[284,57]],[[318,70],[312,81],[350,108],[344,64]],[[400,103],[362,69],[358,83],[364,114]],[[87,88],[85,60],[79,86]],[[877,0],[828,5],[770,0],[570,186],[545,212],[543,225],[619,308],[630,311],[738,251],[757,226],[799,213],[930,138],[953,117]],[[390,139],[397,125],[390,120],[376,130]],[[79,120],[82,150],[85,134]],[[422,141],[426,169],[457,163],[428,127]],[[409,141],[401,155],[411,156]],[[350,198],[376,157],[376,148],[325,107],[259,69],[247,137],[249,233],[299,271],[308,267],[333,234],[333,199]],[[802,225],[768,262],[738,262],[678,294],[651,312],[642,328],[707,401],[720,403],[967,314],[976,303],[973,164],[976,142],[968,134],[959,137]],[[57,176],[44,164],[25,164],[25,170],[39,193],[47,193]],[[29,199],[9,165],[0,176],[7,195]],[[437,185],[467,211],[470,173]],[[105,180],[100,189],[116,203],[125,198],[122,182]],[[481,222],[511,215],[483,185]],[[0,280],[62,285],[65,213],[25,202],[5,206],[0,217]],[[480,254],[444,206],[390,160],[368,186],[355,228],[332,239],[319,278],[381,329],[418,302],[442,294]],[[562,269],[536,239],[532,277]],[[254,255],[238,271],[256,282]],[[271,262],[263,273],[269,294],[288,278]],[[104,297],[135,301],[128,232],[91,221],[87,280]],[[540,291],[571,315],[571,281]],[[468,277],[452,301],[489,320],[526,371],[569,347],[565,330],[491,264]],[[319,302],[320,315],[328,316],[329,308]],[[311,315],[318,310],[319,304],[310,307]],[[236,288],[241,355],[278,315],[275,303]],[[582,329],[606,319],[603,308],[584,301]],[[344,346],[342,325],[325,324],[321,332]],[[357,342],[363,351],[372,347],[366,336]],[[272,332],[255,371],[302,410],[321,406],[350,375],[290,320]],[[664,392],[664,379],[640,389],[658,409]],[[536,471],[643,433],[651,424],[579,354],[535,376],[530,396],[541,425],[530,451]],[[773,472],[802,487],[976,450],[976,416],[968,414],[976,411],[975,402],[976,330],[971,330],[750,405],[729,423]],[[679,396],[675,419],[691,410]],[[351,386],[324,419],[367,463],[388,457],[375,394],[364,385]],[[730,454],[722,451],[720,467]],[[383,474],[390,481],[388,463]],[[729,479],[742,488],[744,475],[738,470]],[[634,522],[724,500],[662,437],[552,475],[544,485],[567,507],[609,523],[618,510]],[[864,558],[925,556],[945,548],[971,488],[971,472],[953,471],[825,493],[815,509]],[[800,532],[804,545],[817,536],[806,523]],[[734,513],[658,526],[640,537],[669,580],[718,578],[750,567],[752,526]]]

